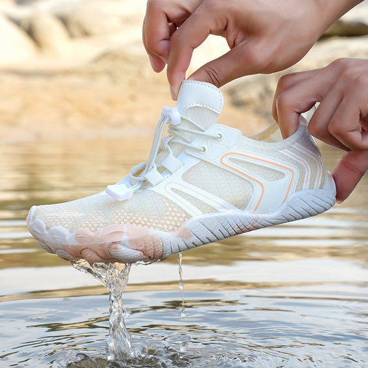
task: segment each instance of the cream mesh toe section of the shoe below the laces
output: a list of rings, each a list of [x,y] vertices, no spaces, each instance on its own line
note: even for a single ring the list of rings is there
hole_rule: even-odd
[[[111,224],[135,224],[173,231],[190,217],[180,206],[153,191],[137,191],[130,200],[118,202],[108,195],[93,195],[61,204],[37,206],[35,217],[46,227],[64,226],[97,231]]]

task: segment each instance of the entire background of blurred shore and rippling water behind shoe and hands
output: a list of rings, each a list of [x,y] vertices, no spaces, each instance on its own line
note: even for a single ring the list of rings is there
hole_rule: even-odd
[[[40,249],[25,219],[33,204],[97,193],[146,161],[162,106],[173,101],[142,46],[145,7],[0,1],[1,367],[106,366],[106,288]],[[210,37],[191,70],[226,50]],[[368,58],[367,1],[293,68],[224,86],[220,122],[244,134],[262,130],[282,74],[339,57]],[[332,170],[343,153],[320,148]],[[126,325],[133,345],[149,342],[157,358],[135,367],[366,366],[367,188],[366,175],[318,217],[184,253],[186,319],[176,256],[133,267]]]

